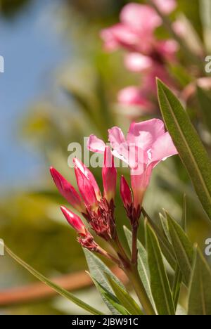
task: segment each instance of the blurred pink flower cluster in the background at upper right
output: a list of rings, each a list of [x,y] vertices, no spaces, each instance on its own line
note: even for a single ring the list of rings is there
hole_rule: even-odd
[[[174,0],[154,0],[154,3],[165,14],[177,6]],[[125,49],[124,65],[129,71],[141,74],[140,86],[122,89],[117,96],[118,102],[138,105],[146,113],[155,110],[156,77],[174,87],[166,64],[176,60],[178,44],[171,39],[156,39],[155,29],[161,24],[154,8],[130,3],[122,9],[120,23],[101,31],[106,50]]]

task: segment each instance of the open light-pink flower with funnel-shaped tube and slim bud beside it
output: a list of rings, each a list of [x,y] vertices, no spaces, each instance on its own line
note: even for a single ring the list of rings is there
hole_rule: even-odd
[[[119,127],[108,130],[108,139],[113,148],[113,155],[129,165],[131,172],[131,185],[133,191],[133,211],[139,217],[143,196],[150,183],[153,168],[167,157],[177,154],[172,138],[165,131],[162,120],[153,119],[145,122],[132,123],[127,137],[124,137]],[[96,136],[89,137],[87,146],[89,150],[102,153],[106,145]],[[98,148],[98,146],[101,146]],[[124,193],[124,191],[127,194]],[[129,200],[129,189],[126,181],[121,187],[124,207]],[[133,215],[134,216],[134,215]]]

